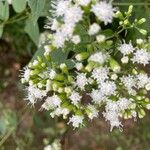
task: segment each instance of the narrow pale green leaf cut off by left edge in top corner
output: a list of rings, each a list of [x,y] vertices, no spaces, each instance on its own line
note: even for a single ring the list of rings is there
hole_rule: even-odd
[[[0,1],[0,19],[1,20],[8,20],[9,18],[9,4],[8,2]]]

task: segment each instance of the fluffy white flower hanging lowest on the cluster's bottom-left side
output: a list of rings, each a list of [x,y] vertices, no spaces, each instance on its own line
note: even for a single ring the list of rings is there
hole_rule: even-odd
[[[78,128],[80,125],[83,125],[83,119],[83,116],[73,115],[68,123],[72,123],[73,127]]]

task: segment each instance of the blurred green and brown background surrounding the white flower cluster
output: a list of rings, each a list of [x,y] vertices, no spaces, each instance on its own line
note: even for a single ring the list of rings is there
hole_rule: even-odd
[[[38,106],[33,108],[23,100],[20,70],[38,49],[39,38],[42,43],[49,3],[31,0],[20,8],[16,4],[2,6],[0,1],[0,150],[43,150],[56,139],[66,150],[150,150],[150,113],[142,120],[124,121],[123,132],[110,132],[102,118],[80,131],[71,131],[62,120],[51,119]],[[133,18],[147,19],[143,28],[150,35],[150,1],[114,1],[121,10],[127,10],[130,3],[135,5]],[[132,32],[131,38],[139,36]]]

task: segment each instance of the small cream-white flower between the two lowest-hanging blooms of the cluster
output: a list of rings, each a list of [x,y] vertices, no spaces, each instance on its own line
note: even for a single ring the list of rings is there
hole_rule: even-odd
[[[88,105],[88,110],[90,111],[88,113],[88,117],[92,120],[93,118],[98,117],[98,110],[93,105]]]

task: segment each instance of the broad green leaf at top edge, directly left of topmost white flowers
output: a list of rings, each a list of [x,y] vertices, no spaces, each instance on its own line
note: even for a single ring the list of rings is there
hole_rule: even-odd
[[[34,22],[36,22],[45,10],[46,0],[29,0],[28,4],[34,16]]]

